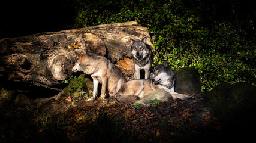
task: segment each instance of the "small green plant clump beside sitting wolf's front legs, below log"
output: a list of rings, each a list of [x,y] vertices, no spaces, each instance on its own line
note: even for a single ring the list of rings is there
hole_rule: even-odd
[[[86,87],[84,76],[85,75],[76,77],[71,75],[67,80],[63,80],[61,83],[69,83],[69,85],[64,89],[64,94],[74,94],[73,97],[85,95],[88,98],[86,92],[83,91],[83,88]]]

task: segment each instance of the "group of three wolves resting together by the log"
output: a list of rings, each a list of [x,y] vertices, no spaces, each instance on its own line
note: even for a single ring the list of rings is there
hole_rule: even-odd
[[[192,98],[188,95],[174,91],[176,77],[168,66],[167,61],[157,65],[150,76],[153,63],[152,48],[147,44],[147,38],[141,41],[131,39],[131,54],[134,63],[134,80],[127,81],[124,74],[115,64],[106,57],[97,54],[81,54],[76,52],[76,61],[73,72],[83,71],[91,75],[93,80],[93,93],[88,101],[97,97],[98,85],[101,84],[100,99],[104,100],[107,95],[115,97],[119,102],[132,102],[143,98],[151,92],[163,88],[173,99]],[[144,70],[144,72],[140,72]],[[144,75],[142,75],[144,73]],[[141,79],[141,77],[144,77]]]

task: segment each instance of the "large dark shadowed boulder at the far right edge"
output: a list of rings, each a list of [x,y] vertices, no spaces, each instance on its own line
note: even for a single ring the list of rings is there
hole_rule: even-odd
[[[216,86],[204,95],[207,107],[220,119],[233,119],[234,117],[251,116],[256,109],[256,87],[249,83],[231,85],[224,83]]]

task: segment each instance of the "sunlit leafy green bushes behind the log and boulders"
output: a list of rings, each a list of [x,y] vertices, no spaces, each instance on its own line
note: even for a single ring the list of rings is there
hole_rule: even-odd
[[[75,27],[125,21],[146,26],[155,48],[154,62],[167,60],[172,68],[194,66],[204,92],[224,82],[256,83],[255,35],[215,17],[207,2],[77,0],[75,7]]]

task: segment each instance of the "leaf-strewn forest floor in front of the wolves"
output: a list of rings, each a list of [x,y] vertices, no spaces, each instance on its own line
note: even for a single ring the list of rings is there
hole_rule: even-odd
[[[58,100],[25,107],[5,104],[0,107],[0,142],[216,142],[220,139],[247,139],[240,133],[245,132],[240,128],[242,125],[238,126],[237,122],[227,125],[229,121],[214,117],[209,108],[204,107],[202,97],[171,100],[149,107],[132,105],[111,97],[89,102],[82,96],[61,96]]]

